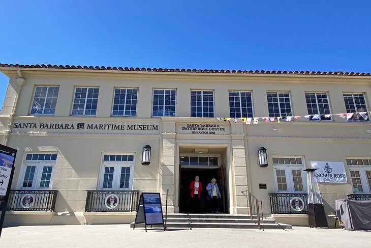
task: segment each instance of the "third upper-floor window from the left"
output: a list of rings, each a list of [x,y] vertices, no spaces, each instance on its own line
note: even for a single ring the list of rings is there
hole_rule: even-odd
[[[115,88],[112,116],[137,115],[138,89]]]

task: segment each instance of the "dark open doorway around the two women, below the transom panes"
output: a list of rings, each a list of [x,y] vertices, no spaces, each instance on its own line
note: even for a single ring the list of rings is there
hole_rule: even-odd
[[[225,199],[227,199],[224,182],[224,171],[223,167],[219,168],[180,168],[180,180],[179,180],[179,212],[181,213],[191,213],[192,208],[192,198],[190,184],[195,177],[199,176],[200,182],[202,183],[202,191],[200,198],[200,212],[208,213],[211,212],[211,201],[207,201],[207,190],[206,186],[211,182],[212,178],[217,179],[219,189],[222,194],[222,199],[220,199],[220,211],[222,213],[226,212]]]

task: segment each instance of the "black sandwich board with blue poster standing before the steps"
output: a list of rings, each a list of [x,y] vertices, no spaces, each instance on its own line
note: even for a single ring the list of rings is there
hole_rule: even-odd
[[[162,213],[160,193],[140,194],[137,214],[135,216],[134,228],[136,224],[144,223],[145,232],[147,225],[164,225],[164,215]]]

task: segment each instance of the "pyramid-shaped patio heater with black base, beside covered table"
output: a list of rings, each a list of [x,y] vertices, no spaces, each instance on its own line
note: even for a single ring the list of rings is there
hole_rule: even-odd
[[[308,225],[309,227],[315,228],[328,228],[320,188],[318,187],[317,179],[313,176],[313,172],[316,170],[318,170],[318,168],[309,168],[304,170],[307,172],[308,183]]]

